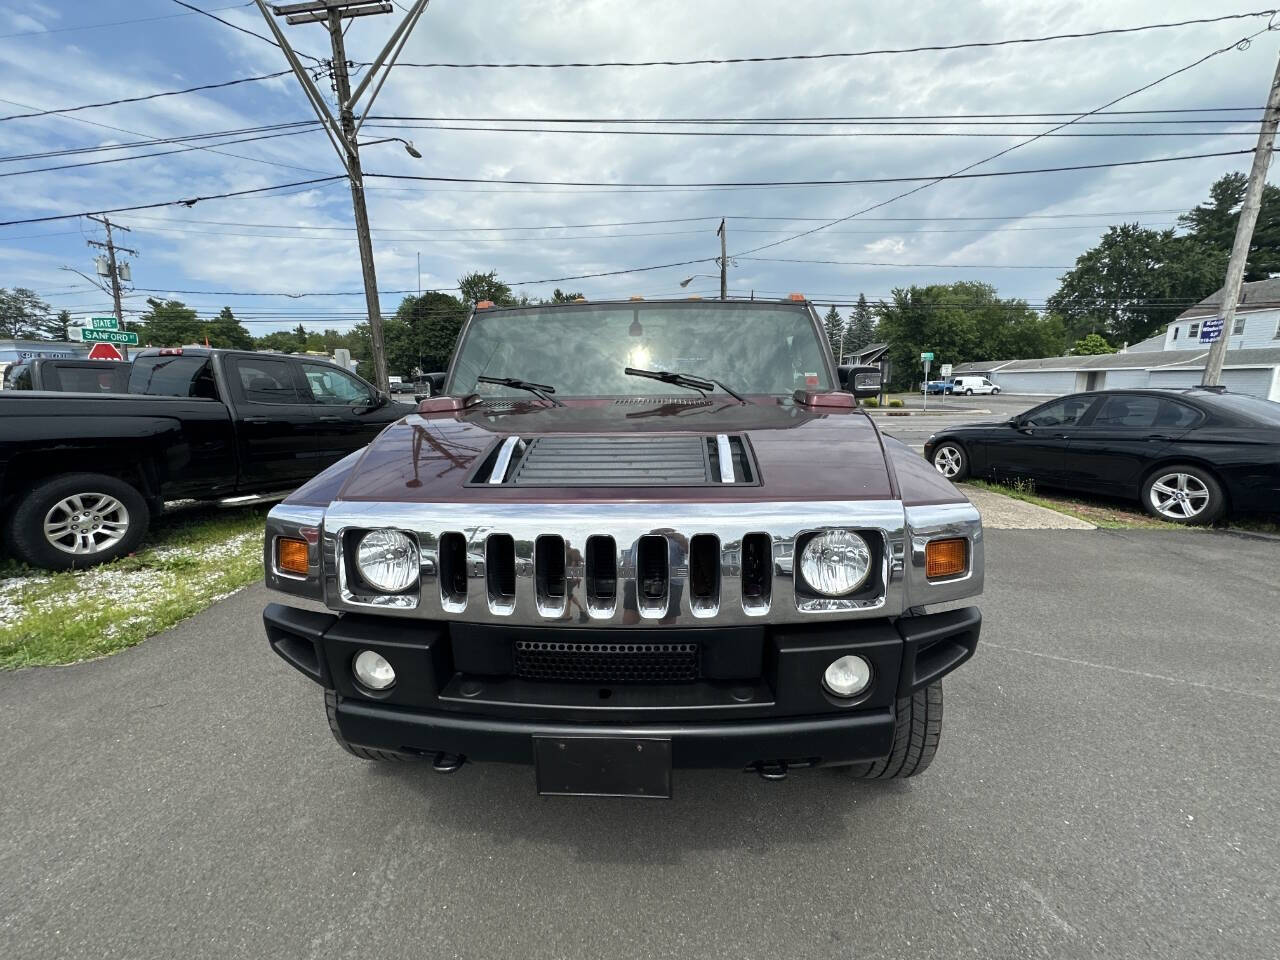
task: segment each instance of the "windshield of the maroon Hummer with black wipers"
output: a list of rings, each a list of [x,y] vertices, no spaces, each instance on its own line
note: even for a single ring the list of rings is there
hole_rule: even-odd
[[[739,393],[831,389],[826,344],[801,306],[778,303],[575,303],[476,314],[458,348],[451,392],[529,394],[479,383],[550,384],[557,397],[652,397],[686,390],[627,376],[628,366],[723,380]]]

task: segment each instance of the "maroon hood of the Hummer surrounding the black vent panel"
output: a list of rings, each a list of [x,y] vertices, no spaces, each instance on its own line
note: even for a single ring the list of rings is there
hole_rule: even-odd
[[[509,436],[741,438],[754,454],[756,483],[522,486],[474,483]],[[301,493],[301,492],[300,492]],[[387,428],[360,457],[338,499],[370,502],[760,502],[855,500],[895,497],[874,425],[856,408],[806,407],[792,399],[754,403],[591,399],[548,407],[536,401],[488,401],[462,411],[413,413]]]

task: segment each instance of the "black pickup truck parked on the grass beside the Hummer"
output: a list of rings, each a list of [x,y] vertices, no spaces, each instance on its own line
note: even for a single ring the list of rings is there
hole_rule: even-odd
[[[136,549],[173,499],[283,493],[412,407],[310,357],[140,352],[127,393],[0,393],[0,540],[87,567]]]

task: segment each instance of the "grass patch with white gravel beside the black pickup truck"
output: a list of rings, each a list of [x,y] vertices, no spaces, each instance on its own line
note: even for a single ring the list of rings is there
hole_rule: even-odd
[[[105,657],[262,576],[266,507],[165,513],[143,549],[63,573],[0,563],[0,669]]]

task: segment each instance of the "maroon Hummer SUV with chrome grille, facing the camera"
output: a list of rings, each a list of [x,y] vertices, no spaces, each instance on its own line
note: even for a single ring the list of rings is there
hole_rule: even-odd
[[[369,760],[919,773],[973,655],[978,512],[799,298],[480,303],[440,396],[271,511],[273,649]],[[847,375],[847,376],[846,376]]]

